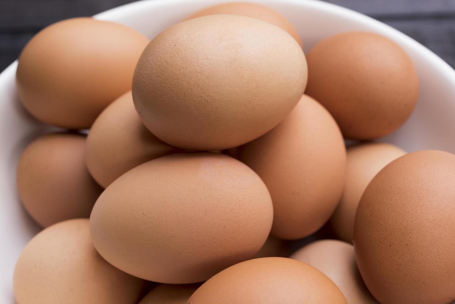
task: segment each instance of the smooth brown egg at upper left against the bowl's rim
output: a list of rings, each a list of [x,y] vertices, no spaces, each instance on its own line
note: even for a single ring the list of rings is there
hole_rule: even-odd
[[[114,99],[131,90],[148,39],[112,22],[73,18],[36,34],[22,50],[17,92],[47,124],[86,129]]]

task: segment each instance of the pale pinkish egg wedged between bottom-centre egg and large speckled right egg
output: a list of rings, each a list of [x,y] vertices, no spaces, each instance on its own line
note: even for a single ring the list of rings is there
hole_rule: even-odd
[[[319,240],[295,252],[291,258],[307,263],[328,276],[349,304],[378,304],[365,287],[355,263],[354,246],[338,240]]]

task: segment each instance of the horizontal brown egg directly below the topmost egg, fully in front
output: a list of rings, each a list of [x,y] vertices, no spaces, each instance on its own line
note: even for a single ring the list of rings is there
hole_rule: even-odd
[[[174,154],[126,172],[90,217],[93,243],[109,263],[160,283],[195,283],[253,258],[270,232],[263,181],[220,153]]]

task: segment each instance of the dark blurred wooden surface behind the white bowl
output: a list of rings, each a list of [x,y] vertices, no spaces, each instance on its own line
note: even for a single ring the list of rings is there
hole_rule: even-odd
[[[455,67],[455,0],[326,1],[393,26]],[[0,0],[0,71],[19,56],[27,41],[43,27],[66,18],[95,15],[129,2],[133,1]]]

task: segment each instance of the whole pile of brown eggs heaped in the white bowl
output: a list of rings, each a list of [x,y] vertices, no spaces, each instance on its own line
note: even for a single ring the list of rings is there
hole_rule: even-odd
[[[304,47],[248,3],[152,41],[91,18],[33,37],[17,93],[61,130],[17,167],[44,228],[17,303],[453,302],[455,155],[373,141],[412,113],[413,63],[368,32]]]

